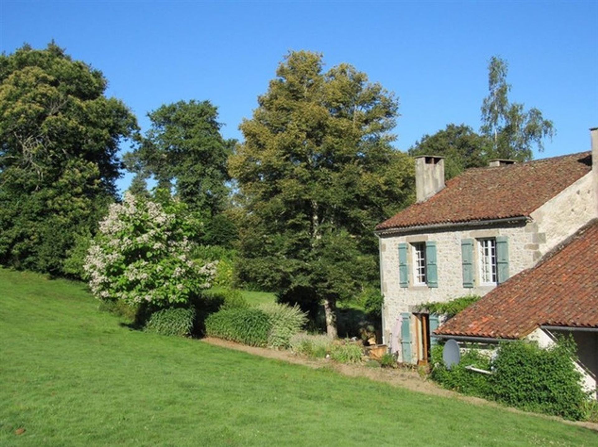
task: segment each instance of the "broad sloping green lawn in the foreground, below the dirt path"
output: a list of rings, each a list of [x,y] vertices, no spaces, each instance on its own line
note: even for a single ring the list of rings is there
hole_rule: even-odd
[[[598,443],[534,415],[132,331],[96,309],[79,283],[0,269],[1,446]]]

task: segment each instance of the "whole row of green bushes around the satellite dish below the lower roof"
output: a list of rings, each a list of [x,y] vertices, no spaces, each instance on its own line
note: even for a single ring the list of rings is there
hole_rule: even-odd
[[[497,400],[527,411],[578,420],[590,417],[581,374],[575,369],[575,342],[572,338],[542,349],[537,343],[514,341],[501,344],[498,355],[477,349],[462,354],[460,363],[449,371],[442,360],[442,346],[432,349],[432,378],[444,387],[464,394]],[[465,366],[492,370],[492,375],[468,371]]]

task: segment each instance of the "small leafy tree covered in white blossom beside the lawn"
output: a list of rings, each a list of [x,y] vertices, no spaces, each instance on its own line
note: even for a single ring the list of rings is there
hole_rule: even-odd
[[[176,204],[172,208],[166,212],[130,193],[123,204],[110,206],[84,265],[97,298],[168,307],[210,287],[215,263],[200,266],[191,260],[188,223]]]

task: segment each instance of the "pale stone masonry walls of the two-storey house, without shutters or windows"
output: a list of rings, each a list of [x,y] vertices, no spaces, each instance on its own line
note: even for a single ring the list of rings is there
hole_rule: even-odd
[[[516,194],[517,192],[514,192]],[[449,301],[463,295],[485,295],[495,286],[480,285],[478,249],[474,249],[474,287],[463,287],[461,242],[506,236],[508,240],[509,276],[533,267],[542,256],[576,232],[591,218],[596,217],[597,198],[590,173],[545,202],[527,218],[492,221],[475,224],[446,226],[441,229],[426,227],[397,229],[379,234],[380,279],[385,297],[383,306],[383,341],[389,344],[399,334],[392,334],[403,312],[413,312],[419,304]],[[437,256],[438,287],[414,286],[414,259],[408,250],[409,286],[399,284],[399,243],[411,244],[434,241]],[[477,247],[477,244],[475,245]],[[396,330],[396,329],[395,329]],[[410,362],[413,359],[401,359]]]

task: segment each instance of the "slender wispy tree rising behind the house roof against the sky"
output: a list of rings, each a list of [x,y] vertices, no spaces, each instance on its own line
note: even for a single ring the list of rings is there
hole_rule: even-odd
[[[482,103],[480,130],[492,138],[493,156],[527,161],[532,159],[534,145],[544,150],[544,138],[552,138],[555,129],[553,122],[544,119],[535,107],[526,111],[523,104],[509,102],[511,85],[507,83],[507,72],[507,61],[496,56],[490,58],[489,95]]]

